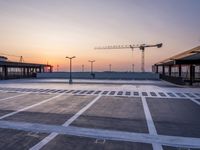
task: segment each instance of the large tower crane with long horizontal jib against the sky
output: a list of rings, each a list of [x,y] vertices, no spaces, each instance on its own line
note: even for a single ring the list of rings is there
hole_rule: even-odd
[[[95,47],[94,49],[127,49],[127,48],[130,48],[133,51],[135,48],[139,48],[142,51],[141,71],[145,72],[145,57],[144,57],[145,48],[148,48],[148,47],[161,48],[162,45],[163,45],[162,43],[155,44],[155,45],[147,45],[147,44],[141,44],[141,45],[113,45],[113,46]]]

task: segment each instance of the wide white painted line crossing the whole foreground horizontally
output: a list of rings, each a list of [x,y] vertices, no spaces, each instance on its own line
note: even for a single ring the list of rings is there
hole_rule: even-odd
[[[39,132],[39,133],[54,133],[52,137],[56,137],[57,134],[89,137],[94,139],[105,139],[115,141],[127,141],[127,142],[140,142],[148,144],[166,145],[173,147],[185,147],[185,148],[200,148],[200,138],[193,137],[180,137],[180,136],[168,136],[168,135],[150,135],[147,133],[134,133],[124,131],[114,131],[105,129],[94,128],[81,128],[74,126],[59,126],[59,125],[46,125],[39,123],[27,123],[27,122],[13,122],[13,121],[0,121],[0,128],[4,129],[16,129],[23,131]],[[44,143],[48,143],[50,138],[46,138]],[[159,147],[158,147],[159,148]]]

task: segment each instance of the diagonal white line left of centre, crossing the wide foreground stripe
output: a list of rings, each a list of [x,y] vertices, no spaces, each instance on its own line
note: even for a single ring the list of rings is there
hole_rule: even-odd
[[[67,120],[62,126],[68,127],[74,120],[76,120],[82,113],[84,113],[88,108],[90,108],[97,100],[99,100],[101,95],[97,96],[94,100],[92,100],[88,105],[83,107],[81,110],[79,110],[74,116],[72,116],[69,120]],[[45,146],[47,143],[49,143],[51,140],[53,140],[58,133],[53,132],[47,137],[45,137],[42,141],[34,145],[30,150],[40,150],[43,146]]]

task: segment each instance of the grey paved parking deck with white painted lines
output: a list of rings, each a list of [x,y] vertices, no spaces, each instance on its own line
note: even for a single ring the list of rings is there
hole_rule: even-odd
[[[200,89],[81,82],[0,81],[0,149],[200,149]]]

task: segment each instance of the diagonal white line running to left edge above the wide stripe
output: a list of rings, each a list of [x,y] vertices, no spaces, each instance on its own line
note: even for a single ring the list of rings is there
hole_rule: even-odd
[[[39,105],[41,105],[41,104],[43,104],[43,103],[49,102],[49,101],[51,101],[51,100],[54,100],[55,98],[58,98],[58,97],[62,96],[63,94],[64,94],[64,93],[59,94],[59,95],[56,95],[56,96],[51,97],[51,98],[49,98],[49,99],[43,100],[43,101],[41,101],[41,102],[39,102],[39,103],[36,103],[36,104],[30,105],[30,106],[27,106],[27,107],[25,107],[25,108],[19,109],[19,110],[17,110],[17,111],[8,113],[8,114],[6,114],[6,115],[1,116],[0,119],[4,119],[4,118],[6,118],[6,117],[10,117],[10,116],[12,116],[12,115],[15,115],[15,114],[17,114],[17,113],[19,113],[19,112],[28,110],[28,109],[33,108],[33,107],[36,107],[36,106],[39,106]]]

